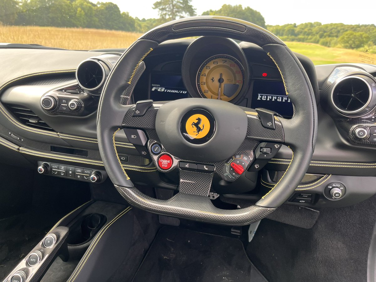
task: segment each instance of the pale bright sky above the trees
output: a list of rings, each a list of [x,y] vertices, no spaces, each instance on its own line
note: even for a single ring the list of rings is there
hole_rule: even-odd
[[[152,9],[156,0],[108,0],[117,4],[121,12],[129,12],[132,17],[159,18],[158,11]],[[94,0],[92,2],[95,2]],[[106,2],[106,1],[103,1]],[[355,2],[347,5],[347,1],[331,0],[192,0],[197,15],[202,12],[218,10],[223,4],[249,6],[259,11],[265,18],[265,23],[270,25],[287,23],[307,23],[319,21],[320,23],[344,24],[376,24],[374,0],[368,2]],[[131,3],[131,4],[130,4]],[[361,4],[362,3],[362,4]],[[373,4],[372,4],[373,3]],[[136,5],[135,5],[136,4]],[[373,6],[373,7],[371,7]]]

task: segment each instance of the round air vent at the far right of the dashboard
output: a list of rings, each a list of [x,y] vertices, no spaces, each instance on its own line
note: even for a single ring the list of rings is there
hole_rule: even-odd
[[[346,76],[332,88],[332,103],[344,115],[360,116],[376,105],[375,82],[363,74]]]

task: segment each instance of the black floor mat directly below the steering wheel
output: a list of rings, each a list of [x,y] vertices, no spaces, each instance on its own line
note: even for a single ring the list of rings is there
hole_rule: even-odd
[[[265,282],[240,240],[178,227],[159,230],[133,282]]]

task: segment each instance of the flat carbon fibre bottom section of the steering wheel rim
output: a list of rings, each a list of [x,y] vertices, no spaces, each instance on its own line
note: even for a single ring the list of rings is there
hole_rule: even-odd
[[[136,188],[115,185],[119,193],[137,208],[161,215],[176,216],[208,223],[242,226],[265,218],[275,208],[249,206],[243,209],[216,208],[206,196],[178,193],[168,200],[153,199]]]

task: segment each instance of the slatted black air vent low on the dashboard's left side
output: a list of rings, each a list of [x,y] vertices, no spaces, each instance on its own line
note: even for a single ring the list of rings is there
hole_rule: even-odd
[[[38,117],[38,115],[34,114],[33,111],[25,106],[7,105],[7,107],[20,123],[36,129],[54,131],[47,123]]]

